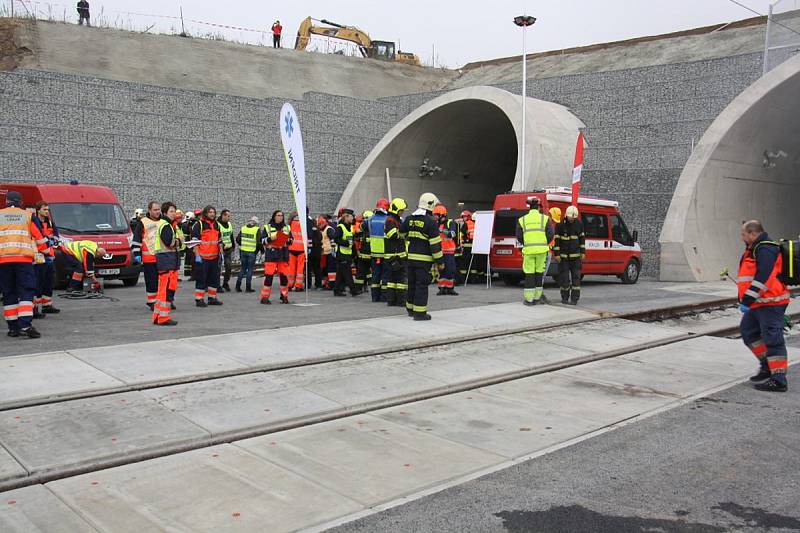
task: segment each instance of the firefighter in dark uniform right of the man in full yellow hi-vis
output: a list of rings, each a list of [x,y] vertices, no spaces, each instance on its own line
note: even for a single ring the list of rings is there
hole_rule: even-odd
[[[578,208],[567,208],[564,220],[556,224],[553,258],[558,263],[561,303],[578,305],[581,298],[581,269],[586,258],[586,235]]]

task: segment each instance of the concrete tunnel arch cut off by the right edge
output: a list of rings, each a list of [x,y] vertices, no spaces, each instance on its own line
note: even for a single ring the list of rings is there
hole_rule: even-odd
[[[742,221],[773,239],[800,233],[800,56],[753,83],[717,117],[684,168],[664,221],[664,281],[735,272]]]

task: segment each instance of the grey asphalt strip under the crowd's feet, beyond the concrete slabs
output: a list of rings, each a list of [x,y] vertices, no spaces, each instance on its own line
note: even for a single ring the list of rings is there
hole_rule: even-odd
[[[260,280],[259,280],[260,281]],[[636,285],[622,285],[616,279],[603,276],[587,276],[583,280],[583,295],[579,309],[573,311],[591,312],[638,312],[656,307],[684,305],[702,301],[717,300],[719,296],[686,292],[697,290],[705,284],[680,284],[681,290],[675,290],[677,284],[654,282],[641,279]],[[157,328],[150,323],[150,311],[144,306],[144,289],[140,283],[137,287],[123,287],[117,282],[106,282],[106,294],[113,296],[110,300],[67,300],[59,304],[63,312],[58,316],[48,317],[37,323],[42,338],[35,341],[0,343],[0,357],[20,354],[44,353],[60,350],[82,350],[87,347],[118,346],[141,342],[142,336],[150,340],[174,340],[177,338],[195,339],[201,336],[231,334],[235,332],[263,331],[270,328],[285,328],[298,325],[327,324],[330,332],[344,326],[352,317],[404,318],[405,310],[386,305],[372,304],[362,298],[335,298],[330,292],[312,291],[310,299],[320,305],[314,307],[270,306],[258,305],[257,298],[251,294],[226,293],[225,305],[213,310],[198,310],[194,307],[193,284],[183,282],[176,295],[178,311],[175,318],[179,324],[176,328]],[[729,296],[736,297],[735,290]],[[458,297],[431,297],[429,308],[432,312],[453,309],[456,314],[469,313],[471,309],[487,304],[512,302],[511,318],[516,318],[516,310],[528,309],[520,304],[521,287],[506,287],[496,284],[491,290],[480,285],[459,287]],[[435,292],[435,289],[434,289]],[[558,298],[558,288],[546,281],[546,292],[551,299]],[[301,298],[298,295],[298,300]],[[560,307],[558,305],[549,307]],[[541,309],[545,309],[543,306]],[[460,310],[460,311],[459,311]],[[529,311],[538,312],[534,307]],[[90,317],[90,321],[86,317]],[[437,316],[437,315],[434,315]],[[403,327],[421,327],[404,318]],[[458,319],[456,319],[457,321]],[[337,322],[331,326],[331,322]],[[425,324],[425,331],[435,330],[437,320],[433,324]],[[97,331],[103,335],[97,335]],[[393,328],[393,332],[397,328]],[[390,331],[390,333],[392,332]],[[363,332],[362,332],[363,333]],[[245,339],[247,337],[245,336]],[[231,342],[231,341],[229,341]],[[247,341],[244,341],[247,344]]]

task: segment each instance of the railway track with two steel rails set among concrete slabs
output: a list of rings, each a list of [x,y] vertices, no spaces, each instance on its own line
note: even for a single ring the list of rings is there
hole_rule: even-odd
[[[579,328],[589,328],[587,335],[597,336],[597,338],[600,339],[604,334],[613,335],[617,330],[625,331],[625,328],[630,324],[653,320],[654,317],[658,317],[655,318],[656,320],[664,320],[670,317],[685,316],[685,314],[689,312],[700,312],[704,309],[727,308],[733,304],[735,304],[735,301],[728,299],[716,300],[692,306],[681,305],[672,308],[658,309],[647,313],[632,313],[615,317],[596,317],[586,320],[577,320],[557,326],[542,328],[527,327],[521,328],[520,331],[503,331],[491,334],[481,333],[471,338],[460,339],[456,342],[423,342],[415,347],[405,346],[402,349],[391,351],[364,351],[354,355],[323,358],[316,361],[309,360],[273,366],[265,365],[261,368],[248,368],[245,371],[226,371],[208,373],[200,376],[187,376],[185,378],[167,380],[167,382],[142,382],[140,384],[126,385],[125,387],[108,388],[102,391],[62,395],[51,399],[39,398],[31,400],[30,402],[20,401],[17,402],[19,405],[4,407],[0,414],[21,420],[30,418],[35,421],[39,413],[47,412],[52,409],[71,408],[73,405],[79,405],[71,402],[83,402],[80,403],[81,406],[91,405],[92,402],[108,403],[116,402],[117,400],[125,402],[126,398],[129,398],[129,396],[126,395],[131,393],[146,394],[149,399],[156,400],[159,404],[160,402],[166,402],[167,405],[165,409],[170,410],[171,408],[168,405],[169,398],[170,395],[176,394],[176,385],[181,390],[187,390],[187,388],[195,386],[211,387],[210,389],[204,389],[206,391],[205,393],[208,393],[207,391],[213,390],[214,387],[224,389],[226,386],[234,384],[234,382],[239,383],[240,380],[246,379],[248,376],[259,378],[261,376],[266,376],[267,378],[277,377],[280,379],[287,379],[288,376],[289,379],[300,380],[299,382],[302,383],[303,376],[308,372],[325,374],[329,371],[337,371],[337,369],[341,368],[341,365],[354,366],[354,373],[356,374],[359,372],[368,373],[375,368],[382,368],[380,365],[384,364],[386,361],[397,362],[413,357],[425,360],[426,357],[438,357],[439,352],[442,351],[445,353],[465,352],[469,347],[474,347],[476,344],[483,345],[484,351],[481,352],[481,354],[492,353],[493,351],[502,351],[504,347],[507,348],[508,346],[530,346],[532,340],[528,338],[529,335],[539,336],[544,339],[561,338],[563,335],[574,333],[575,330]],[[339,418],[447,396],[539,374],[575,368],[604,359],[611,359],[652,348],[676,344],[699,336],[697,334],[669,330],[668,328],[663,328],[664,331],[661,331],[660,326],[655,325],[644,326],[640,324],[639,326],[634,326],[634,330],[636,330],[636,328],[651,328],[655,334],[648,334],[650,336],[648,337],[646,335],[645,337],[647,338],[641,341],[632,340],[624,346],[610,347],[608,349],[603,349],[601,347],[592,353],[565,356],[556,360],[545,361],[542,364],[530,365],[526,368],[513,370],[498,369],[496,372],[490,372],[478,377],[465,375],[463,379],[453,380],[446,384],[421,386],[417,389],[402,393],[388,391],[380,397],[368,398],[365,401],[353,401],[334,408],[319,409],[316,412],[284,418],[277,422],[243,424],[238,427],[227,427],[209,431],[207,434],[200,436],[192,435],[191,438],[179,438],[171,441],[163,440],[159,442],[158,436],[155,436],[154,442],[139,445],[136,449],[126,450],[124,453],[106,453],[106,451],[99,451],[94,456],[87,455],[77,460],[73,458],[72,462],[34,469],[29,472],[29,475],[24,477],[0,480],[0,491],[46,483],[124,464],[165,457],[223,443],[236,442],[251,437],[310,426]],[[705,331],[703,335],[723,335],[728,329],[729,327],[719,328],[718,331]],[[260,389],[256,387],[252,390],[258,392]],[[359,391],[353,390],[352,393],[357,396]],[[161,396],[159,397],[159,395]],[[121,409],[124,409],[124,407]],[[81,416],[80,409],[78,409],[78,411],[79,414],[76,416]],[[105,416],[109,417],[108,423],[113,424],[114,417],[116,416],[115,413],[111,412]],[[2,435],[0,435],[0,437],[2,437]],[[0,443],[2,443],[1,440]],[[13,449],[13,447],[9,446],[6,446],[6,448]]]

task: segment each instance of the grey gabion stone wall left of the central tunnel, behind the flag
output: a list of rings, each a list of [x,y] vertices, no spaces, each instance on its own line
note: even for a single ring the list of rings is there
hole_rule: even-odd
[[[0,180],[111,186],[127,211],[149,199],[211,203],[236,219],[291,209],[278,134],[285,100],[256,100],[43,71],[0,73]],[[398,120],[387,102],[306,93],[294,101],[310,207],[332,210]]]

